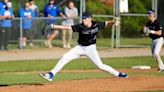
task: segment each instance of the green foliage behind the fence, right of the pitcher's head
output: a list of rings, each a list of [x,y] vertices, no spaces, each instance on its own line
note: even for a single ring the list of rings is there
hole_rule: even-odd
[[[93,14],[113,14],[113,6],[108,6],[99,1],[87,0],[87,9],[93,12]],[[147,13],[147,10],[151,8],[151,0],[129,0],[129,12],[130,13]],[[105,18],[103,18],[105,19]],[[102,18],[95,18],[95,20],[103,20]],[[142,37],[140,29],[145,25],[147,17],[121,17],[121,36],[122,37]],[[111,30],[111,29],[105,29]],[[111,31],[102,31],[98,37],[108,38],[111,35]]]

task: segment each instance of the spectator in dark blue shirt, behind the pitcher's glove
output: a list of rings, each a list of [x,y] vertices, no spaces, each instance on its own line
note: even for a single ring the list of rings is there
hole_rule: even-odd
[[[65,17],[65,15],[59,10],[58,6],[54,4],[54,0],[49,0],[49,3],[44,6],[44,16],[50,19],[46,19],[46,26],[55,24],[56,20],[53,19],[57,15]],[[58,35],[57,30],[48,30],[45,32],[47,41],[44,42],[45,46],[52,48],[51,41]]]

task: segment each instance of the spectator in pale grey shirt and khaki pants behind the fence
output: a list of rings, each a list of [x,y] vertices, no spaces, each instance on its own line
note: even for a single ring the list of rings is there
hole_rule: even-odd
[[[62,25],[71,26],[74,25],[73,17],[78,16],[78,9],[75,7],[73,2],[69,2],[67,7],[64,9],[64,13],[68,19],[62,22]],[[63,30],[63,48],[71,48],[72,30]]]

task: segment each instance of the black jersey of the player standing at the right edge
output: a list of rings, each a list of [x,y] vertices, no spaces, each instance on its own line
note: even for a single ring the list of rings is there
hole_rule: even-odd
[[[154,31],[161,30],[162,31],[162,27],[159,25],[159,22],[157,20],[155,20],[154,22],[148,21],[146,24],[146,27],[148,27],[150,30],[154,30]],[[159,36],[159,35],[155,35],[155,34],[150,33],[149,37],[154,40],[154,39],[162,37],[162,35]]]

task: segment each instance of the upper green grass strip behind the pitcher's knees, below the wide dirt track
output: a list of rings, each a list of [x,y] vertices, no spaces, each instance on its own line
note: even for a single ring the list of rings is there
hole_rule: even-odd
[[[24,60],[0,62],[0,72],[41,71],[50,70],[56,63],[54,60]],[[129,68],[134,65],[149,65],[156,67],[152,57],[103,58],[102,61],[114,68]],[[96,69],[96,66],[87,58],[76,59],[68,63],[64,69]]]

